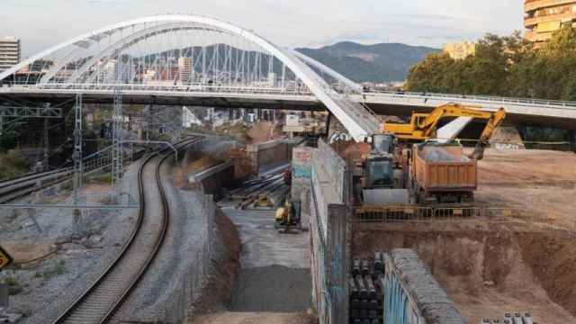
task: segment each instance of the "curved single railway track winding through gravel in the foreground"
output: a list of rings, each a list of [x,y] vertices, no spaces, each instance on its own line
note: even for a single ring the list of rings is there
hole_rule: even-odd
[[[177,143],[182,148],[199,137]],[[128,298],[162,246],[170,220],[168,202],[160,178],[160,167],[172,153],[157,152],[139,166],[140,209],[136,226],[121,253],[54,324],[105,323]],[[147,182],[145,178],[154,178]]]

